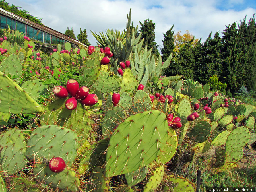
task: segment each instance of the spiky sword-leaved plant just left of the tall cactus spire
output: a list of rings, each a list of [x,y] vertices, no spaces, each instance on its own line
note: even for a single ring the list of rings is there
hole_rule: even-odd
[[[96,34],[96,32],[92,32],[91,31],[91,34],[95,37],[95,39],[98,41],[97,43],[102,47],[107,47],[108,46],[108,43],[107,43],[107,40],[110,40],[111,42],[112,41],[121,41],[123,43],[123,45],[125,45],[125,42],[126,42],[126,39],[125,39],[125,34],[126,32],[125,31],[121,31],[121,30],[113,30],[113,29],[108,29],[106,31],[106,35],[104,35],[103,31],[102,33],[99,32],[100,35]]]

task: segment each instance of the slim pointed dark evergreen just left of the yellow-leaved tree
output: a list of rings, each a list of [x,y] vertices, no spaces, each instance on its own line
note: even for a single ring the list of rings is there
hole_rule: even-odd
[[[172,31],[172,29],[173,26],[166,32],[166,34],[163,34],[164,40],[162,40],[162,42],[164,47],[161,50],[163,61],[166,61],[166,59],[168,59],[168,57],[170,56],[171,53],[173,53],[174,50],[174,31]]]

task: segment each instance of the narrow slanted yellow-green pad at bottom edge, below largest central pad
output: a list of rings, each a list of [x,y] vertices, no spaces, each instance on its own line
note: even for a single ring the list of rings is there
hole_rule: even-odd
[[[148,179],[148,183],[146,184],[143,192],[150,192],[150,191],[156,191],[158,186],[160,185],[162,179],[164,176],[164,166],[160,165],[157,167],[154,172],[152,173],[152,176]]]

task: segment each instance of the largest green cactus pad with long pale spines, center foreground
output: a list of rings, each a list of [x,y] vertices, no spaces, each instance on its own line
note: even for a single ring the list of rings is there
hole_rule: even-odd
[[[157,110],[125,119],[110,138],[105,176],[132,172],[152,162],[164,148],[167,131],[166,115]]]

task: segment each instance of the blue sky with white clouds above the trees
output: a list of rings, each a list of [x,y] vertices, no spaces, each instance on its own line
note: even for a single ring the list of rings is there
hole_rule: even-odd
[[[75,36],[86,29],[88,40],[97,45],[90,31],[97,34],[107,29],[124,30],[127,14],[135,26],[149,19],[155,23],[155,42],[163,47],[165,34],[174,25],[174,33],[186,30],[202,38],[204,42],[210,32],[222,35],[226,25],[247,21],[256,14],[256,0],[5,0],[9,5],[22,7],[29,14],[42,18],[46,26],[64,33],[73,28]],[[212,35],[213,37],[214,35]]]

